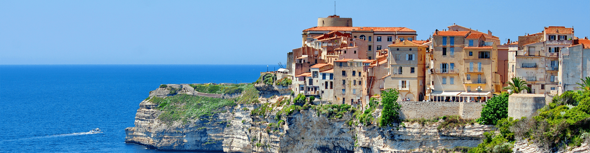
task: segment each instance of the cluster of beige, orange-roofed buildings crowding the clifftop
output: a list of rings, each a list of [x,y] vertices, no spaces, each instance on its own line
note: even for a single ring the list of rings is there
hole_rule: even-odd
[[[294,94],[362,106],[392,88],[398,101],[485,102],[516,77],[530,87],[522,94],[575,90],[590,76],[590,40],[573,27],[539,29],[500,44],[491,31],[453,24],[418,41],[414,29],[352,26],[332,15],[303,30],[277,79],[291,78]]]

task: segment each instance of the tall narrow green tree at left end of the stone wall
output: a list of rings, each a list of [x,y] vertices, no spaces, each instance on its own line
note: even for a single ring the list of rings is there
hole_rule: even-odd
[[[379,126],[391,126],[395,122],[399,122],[399,92],[397,89],[389,89],[381,92],[381,103],[383,104],[383,111],[381,111],[381,119],[379,119]]]

